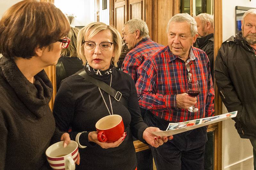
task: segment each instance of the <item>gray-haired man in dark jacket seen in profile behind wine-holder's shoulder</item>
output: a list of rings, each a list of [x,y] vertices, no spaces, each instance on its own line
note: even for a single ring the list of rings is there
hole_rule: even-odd
[[[214,64],[214,42],[213,42],[213,16],[207,13],[199,14],[195,17],[197,24],[198,38],[194,46],[203,50],[210,61],[210,69],[213,78],[213,64]]]

